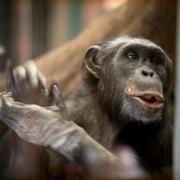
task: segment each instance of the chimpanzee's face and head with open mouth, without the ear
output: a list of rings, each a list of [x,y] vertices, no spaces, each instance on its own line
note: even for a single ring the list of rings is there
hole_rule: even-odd
[[[114,46],[114,47],[113,47]],[[108,47],[108,46],[107,46]],[[112,113],[143,122],[160,120],[167,98],[170,60],[144,39],[118,40],[98,58],[98,94]]]

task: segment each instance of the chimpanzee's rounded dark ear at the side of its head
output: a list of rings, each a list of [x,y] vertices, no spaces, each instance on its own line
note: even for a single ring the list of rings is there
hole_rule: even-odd
[[[99,56],[101,49],[100,46],[94,45],[88,48],[85,54],[85,68],[96,78],[99,78],[99,71],[101,69]]]

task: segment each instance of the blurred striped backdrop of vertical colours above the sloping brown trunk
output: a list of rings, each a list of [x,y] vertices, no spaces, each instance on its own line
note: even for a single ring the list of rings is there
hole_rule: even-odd
[[[125,0],[1,0],[0,71],[71,40],[102,11]]]

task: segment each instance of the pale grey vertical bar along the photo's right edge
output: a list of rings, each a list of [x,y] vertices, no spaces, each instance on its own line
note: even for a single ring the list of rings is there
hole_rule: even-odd
[[[174,128],[174,179],[180,179],[180,0],[177,7],[177,41],[176,41],[176,106]]]

